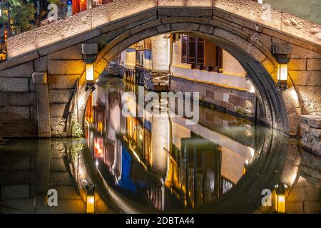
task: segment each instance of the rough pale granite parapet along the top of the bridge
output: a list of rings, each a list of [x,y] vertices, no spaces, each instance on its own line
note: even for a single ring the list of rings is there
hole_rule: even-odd
[[[183,7],[180,10],[166,10],[171,16],[193,16],[220,21],[231,21],[235,26],[241,25],[270,36],[287,36],[299,38],[302,45],[310,49],[321,50],[321,26],[305,21],[296,16],[277,10],[267,9],[262,4],[248,0],[115,0],[109,4],[83,11],[61,21],[41,26],[31,31],[9,38],[9,59],[32,54],[34,57],[46,55],[53,51],[52,45],[62,41],[81,42],[88,38],[106,33],[104,26],[123,21],[124,19],[141,14],[141,12],[161,7]],[[213,9],[197,14],[193,8],[203,7]],[[232,15],[225,14],[228,12]],[[174,15],[175,14],[175,15]],[[165,14],[163,16],[166,16]],[[144,16],[138,20],[146,20]],[[126,24],[126,23],[125,23]],[[108,29],[111,29],[109,26]],[[87,33],[90,31],[90,33]],[[77,38],[75,38],[77,36]],[[74,40],[76,39],[76,40]],[[291,38],[289,38],[291,39]],[[68,40],[68,41],[67,41]],[[46,48],[45,48],[46,47]],[[321,51],[320,51],[321,52]],[[29,56],[31,58],[31,56]]]

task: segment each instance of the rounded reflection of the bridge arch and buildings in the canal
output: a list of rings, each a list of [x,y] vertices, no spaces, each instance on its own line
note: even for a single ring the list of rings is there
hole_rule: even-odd
[[[122,212],[264,211],[263,190],[292,185],[297,146],[283,135],[204,107],[194,125],[145,109],[136,117],[138,90],[101,78],[86,107],[91,165]]]

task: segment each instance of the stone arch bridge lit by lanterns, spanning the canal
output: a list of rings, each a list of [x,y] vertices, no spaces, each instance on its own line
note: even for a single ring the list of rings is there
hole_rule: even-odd
[[[301,115],[321,113],[320,25],[246,0],[115,0],[9,38],[0,136],[71,136],[88,96],[81,44],[98,43],[98,78],[125,48],[161,33],[193,33],[230,52],[258,92],[260,119],[273,128],[295,136]],[[291,52],[283,92],[275,46]]]

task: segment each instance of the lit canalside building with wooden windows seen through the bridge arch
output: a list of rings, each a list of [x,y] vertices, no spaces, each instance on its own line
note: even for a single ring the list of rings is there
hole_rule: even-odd
[[[245,70],[215,43],[185,34],[153,36],[121,53],[124,77],[151,90],[199,92],[203,103],[254,118],[256,95]]]

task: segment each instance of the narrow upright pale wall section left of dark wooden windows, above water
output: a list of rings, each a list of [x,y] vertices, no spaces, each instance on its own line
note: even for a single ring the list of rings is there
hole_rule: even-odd
[[[152,37],[153,69],[158,71],[169,70],[169,39],[164,35]]]

